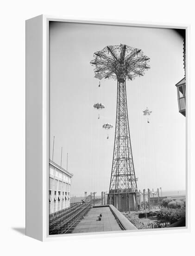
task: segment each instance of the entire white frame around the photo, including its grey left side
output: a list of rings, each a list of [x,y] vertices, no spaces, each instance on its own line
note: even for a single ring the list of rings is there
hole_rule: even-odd
[[[49,236],[49,22],[76,22],[107,25],[182,28],[186,29],[186,227],[169,231],[189,231],[189,25],[138,23],[115,20],[68,20],[64,18],[40,15],[26,20],[26,236],[40,241],[55,240]],[[35,164],[36,159],[36,164]],[[35,221],[36,220],[36,221]],[[138,230],[140,232],[140,230]],[[142,231],[143,232],[143,231]],[[147,234],[148,230],[144,230]],[[110,232],[110,235],[116,232]],[[103,233],[88,235],[100,236]],[[121,234],[121,233],[120,233]],[[125,231],[125,235],[133,235]],[[74,234],[81,236],[82,234]],[[87,235],[87,234],[85,234]],[[104,235],[109,235],[109,232]],[[71,234],[71,236],[73,236]],[[83,235],[82,235],[83,236]]]

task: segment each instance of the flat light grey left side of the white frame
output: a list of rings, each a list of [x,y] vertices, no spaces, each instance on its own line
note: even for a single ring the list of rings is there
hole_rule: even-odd
[[[43,241],[43,15],[26,20],[25,43],[25,234]]]

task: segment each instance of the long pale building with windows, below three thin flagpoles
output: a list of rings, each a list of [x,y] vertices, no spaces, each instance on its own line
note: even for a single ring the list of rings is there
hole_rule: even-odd
[[[70,186],[73,174],[51,160],[49,169],[49,209],[50,213],[55,213],[70,207]]]

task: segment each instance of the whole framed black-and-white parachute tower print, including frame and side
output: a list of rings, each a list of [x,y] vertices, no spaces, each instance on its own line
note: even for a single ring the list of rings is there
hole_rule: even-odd
[[[189,26],[26,21],[26,235],[188,229]]]

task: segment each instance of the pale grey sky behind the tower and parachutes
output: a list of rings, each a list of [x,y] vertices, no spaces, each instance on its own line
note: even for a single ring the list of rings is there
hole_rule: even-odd
[[[71,195],[109,189],[117,82],[94,78],[93,53],[107,45],[140,48],[151,58],[144,77],[126,81],[130,136],[138,189],[185,189],[185,117],[178,112],[175,84],[184,76],[182,38],[172,29],[50,23],[50,158],[69,153]],[[98,111],[94,103],[105,109]],[[142,111],[151,111],[150,123]],[[100,119],[98,120],[98,114]]]

